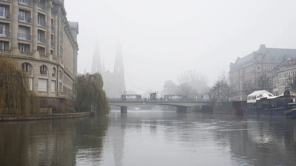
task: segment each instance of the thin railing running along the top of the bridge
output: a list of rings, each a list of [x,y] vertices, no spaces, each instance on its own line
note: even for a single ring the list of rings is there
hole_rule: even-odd
[[[192,102],[197,102],[197,101],[211,101],[209,99],[120,99],[120,98],[108,98],[108,101],[192,101]]]

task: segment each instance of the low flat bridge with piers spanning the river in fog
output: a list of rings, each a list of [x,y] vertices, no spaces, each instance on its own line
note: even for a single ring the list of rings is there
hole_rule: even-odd
[[[108,99],[109,105],[120,106],[120,112],[126,113],[127,107],[132,105],[156,104],[172,105],[177,107],[177,112],[200,111],[204,107],[211,107],[214,102],[204,99]]]

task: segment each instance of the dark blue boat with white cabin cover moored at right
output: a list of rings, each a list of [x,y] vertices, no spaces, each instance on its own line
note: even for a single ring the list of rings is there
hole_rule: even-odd
[[[244,115],[258,117],[296,118],[296,99],[286,90],[280,96],[268,91],[255,91],[247,97]]]

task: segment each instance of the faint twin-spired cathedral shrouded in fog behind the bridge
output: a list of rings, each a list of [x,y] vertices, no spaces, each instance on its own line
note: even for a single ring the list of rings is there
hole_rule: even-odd
[[[103,89],[106,91],[108,98],[120,98],[121,93],[125,91],[125,81],[124,81],[124,67],[123,67],[123,58],[121,54],[121,47],[118,43],[114,70],[110,72],[105,70],[104,60],[103,65],[101,64],[101,54],[99,51],[98,42],[96,42],[95,52],[93,55],[91,73],[99,72],[102,74],[104,80]]]

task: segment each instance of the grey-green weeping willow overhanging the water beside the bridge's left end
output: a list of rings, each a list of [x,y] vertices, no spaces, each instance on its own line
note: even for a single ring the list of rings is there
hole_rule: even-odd
[[[95,110],[100,115],[109,113],[108,99],[103,90],[103,78],[100,73],[79,74],[75,81],[76,108],[79,111]]]

